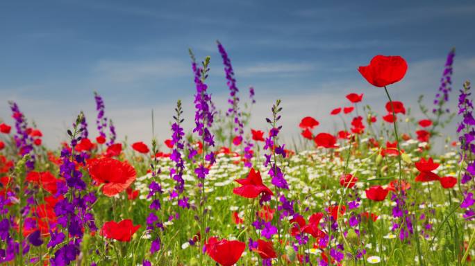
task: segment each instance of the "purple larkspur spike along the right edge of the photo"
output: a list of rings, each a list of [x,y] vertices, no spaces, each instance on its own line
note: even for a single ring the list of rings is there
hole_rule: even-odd
[[[466,209],[463,217],[467,220],[475,218],[474,206],[474,186],[471,181],[475,176],[475,161],[472,159],[472,154],[475,152],[475,119],[473,116],[474,105],[470,96],[470,82],[466,81],[463,89],[460,90],[458,97],[458,114],[462,115],[462,121],[459,123],[457,133],[460,134],[460,149],[462,150],[462,160],[467,162],[467,169],[463,172],[460,183],[467,186],[464,191],[464,200],[460,208]]]

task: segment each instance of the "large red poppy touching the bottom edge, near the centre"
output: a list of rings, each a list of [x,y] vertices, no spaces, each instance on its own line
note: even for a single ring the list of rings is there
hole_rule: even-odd
[[[228,241],[210,238],[205,244],[206,254],[222,266],[232,266],[241,258],[246,244],[238,240]]]

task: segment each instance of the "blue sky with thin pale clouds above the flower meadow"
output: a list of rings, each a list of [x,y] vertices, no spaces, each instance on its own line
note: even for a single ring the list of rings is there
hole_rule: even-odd
[[[192,118],[188,48],[211,56],[210,91],[226,104],[219,39],[242,98],[256,89],[253,127],[281,98],[286,136],[298,134],[306,115],[328,130],[329,110],[347,105],[348,92],[382,112],[383,91],[356,71],[376,54],[408,61],[408,75],[392,87],[408,105],[419,94],[431,103],[453,46],[454,91],[474,80],[473,14],[472,1],[1,1],[0,118],[11,123],[6,101],[16,100],[54,146],[84,110],[95,136],[95,90],[120,139],[149,140],[151,109],[165,139],[176,99]]]

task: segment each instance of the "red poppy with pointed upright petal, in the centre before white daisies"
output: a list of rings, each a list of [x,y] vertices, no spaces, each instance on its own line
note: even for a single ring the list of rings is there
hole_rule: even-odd
[[[263,179],[260,177],[260,172],[251,168],[249,175],[247,175],[244,179],[235,179],[236,182],[241,184],[242,186],[233,189],[233,193],[236,195],[240,195],[241,197],[247,197],[249,199],[256,198],[260,195],[260,193],[264,193],[267,195],[274,195],[272,190],[267,188],[263,184]]]

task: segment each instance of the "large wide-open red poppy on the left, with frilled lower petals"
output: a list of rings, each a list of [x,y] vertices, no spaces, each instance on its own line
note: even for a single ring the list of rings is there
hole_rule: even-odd
[[[135,181],[135,169],[126,161],[101,158],[90,161],[89,174],[98,184],[104,184],[102,192],[108,197],[121,193]]]

